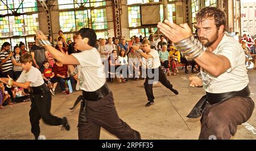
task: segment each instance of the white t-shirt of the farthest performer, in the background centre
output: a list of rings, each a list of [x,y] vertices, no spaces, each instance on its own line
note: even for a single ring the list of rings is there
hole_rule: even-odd
[[[147,69],[159,68],[161,63],[158,52],[155,49],[151,49],[149,54],[152,56],[152,58],[147,58]]]

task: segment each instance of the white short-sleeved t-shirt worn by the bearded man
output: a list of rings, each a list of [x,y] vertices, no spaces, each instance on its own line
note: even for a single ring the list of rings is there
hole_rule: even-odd
[[[249,78],[245,66],[245,53],[240,43],[224,35],[213,53],[227,57],[231,68],[218,77],[201,70],[204,90],[208,93],[227,93],[245,88]]]

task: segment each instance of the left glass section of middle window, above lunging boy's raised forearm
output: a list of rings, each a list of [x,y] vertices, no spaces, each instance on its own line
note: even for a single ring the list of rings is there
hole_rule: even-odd
[[[60,28],[63,32],[76,31],[75,11],[60,12]]]

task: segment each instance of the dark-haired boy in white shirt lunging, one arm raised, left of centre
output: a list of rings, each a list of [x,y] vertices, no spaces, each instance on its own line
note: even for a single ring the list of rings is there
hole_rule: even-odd
[[[42,32],[36,32],[36,36],[54,58],[69,65],[70,75],[81,83],[82,95],[74,104],[75,107],[82,100],[78,124],[79,139],[100,139],[101,127],[119,139],[141,139],[138,131],[118,117],[112,91],[106,84],[100,53],[94,48],[97,37],[94,30],[82,28],[78,32],[76,43],[81,52],[71,55],[60,53],[53,48]],[[74,69],[73,65],[77,65],[77,68]]]

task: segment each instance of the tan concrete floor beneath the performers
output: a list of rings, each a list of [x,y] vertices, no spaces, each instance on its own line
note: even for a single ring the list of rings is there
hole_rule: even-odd
[[[189,87],[188,77],[192,73],[167,77],[174,87],[179,90],[179,95],[173,94],[160,83],[154,85],[155,104],[144,107],[147,103],[143,87],[143,80],[129,81],[127,83],[109,83],[113,91],[115,107],[119,117],[126,121],[131,128],[141,133],[142,139],[197,139],[200,133],[200,119],[186,118],[197,100],[204,95],[202,88]],[[256,100],[256,70],[249,70],[251,97]],[[75,91],[69,95],[57,94],[52,98],[51,112],[53,115],[67,116],[71,124],[71,131],[61,131],[59,126],[49,126],[40,121],[41,135],[47,139],[69,140],[77,137],[77,118],[79,106],[74,111],[69,110],[73,106],[76,97],[81,91]],[[28,112],[30,102],[18,103],[6,106],[0,110],[0,139],[34,139],[30,132]],[[256,139],[256,111],[247,121],[251,127],[239,125],[237,133],[232,139]],[[101,129],[100,139],[117,139],[117,137]]]

